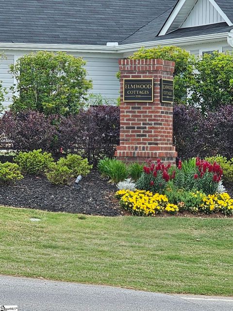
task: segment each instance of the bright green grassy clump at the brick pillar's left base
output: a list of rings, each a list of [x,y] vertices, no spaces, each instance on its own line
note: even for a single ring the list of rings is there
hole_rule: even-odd
[[[108,177],[114,183],[123,181],[129,175],[126,164],[116,159],[105,158],[100,160],[98,169],[103,176]]]

